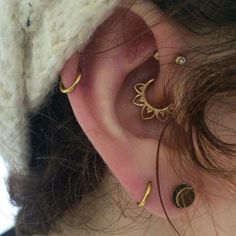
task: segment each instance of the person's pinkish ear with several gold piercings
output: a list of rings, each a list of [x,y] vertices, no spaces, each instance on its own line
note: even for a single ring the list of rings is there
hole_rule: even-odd
[[[173,22],[160,20],[162,17],[162,12],[149,2],[118,9],[97,29],[84,51],[74,54],[61,71],[65,87],[81,73],[79,85],[69,94],[79,124],[135,201],[142,199],[146,184],[153,182],[146,208],[158,216],[164,212],[157,188],[156,156],[165,124],[157,119],[141,119],[133,99],[135,84],[155,78],[148,99],[159,106],[173,100],[164,92],[164,75],[178,70],[173,62],[186,45]],[[156,50],[159,61],[153,57]],[[171,191],[183,180],[168,162],[171,145],[165,140],[159,150],[159,173],[164,183],[163,203],[174,215],[177,210]]]

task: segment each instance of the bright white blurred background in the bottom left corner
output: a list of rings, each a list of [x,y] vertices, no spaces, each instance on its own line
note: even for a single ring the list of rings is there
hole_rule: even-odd
[[[7,168],[0,157],[0,235],[14,226],[17,208],[10,201],[6,188]]]

